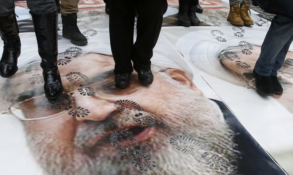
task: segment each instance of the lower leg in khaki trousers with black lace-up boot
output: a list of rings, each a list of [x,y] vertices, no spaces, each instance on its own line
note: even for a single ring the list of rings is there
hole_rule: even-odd
[[[84,45],[88,40],[77,26],[79,0],[61,0],[62,36],[75,45]]]

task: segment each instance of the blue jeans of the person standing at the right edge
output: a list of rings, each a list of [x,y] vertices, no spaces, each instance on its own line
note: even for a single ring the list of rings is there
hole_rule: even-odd
[[[273,18],[261,46],[255,72],[261,76],[277,76],[293,40],[293,19],[284,15]]]

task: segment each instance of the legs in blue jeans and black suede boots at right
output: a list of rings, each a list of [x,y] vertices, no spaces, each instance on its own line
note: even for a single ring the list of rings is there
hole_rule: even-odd
[[[256,88],[265,95],[283,92],[274,75],[284,62],[289,45],[292,43],[292,35],[292,19],[283,15],[277,15],[273,18],[254,68]]]

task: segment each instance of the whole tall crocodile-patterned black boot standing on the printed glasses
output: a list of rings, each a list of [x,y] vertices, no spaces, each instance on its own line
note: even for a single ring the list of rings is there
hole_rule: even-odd
[[[34,14],[33,25],[38,43],[38,52],[42,58],[44,90],[48,99],[56,99],[63,91],[60,73],[57,67],[57,25],[58,13]]]

